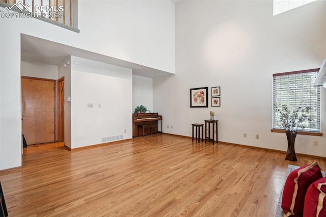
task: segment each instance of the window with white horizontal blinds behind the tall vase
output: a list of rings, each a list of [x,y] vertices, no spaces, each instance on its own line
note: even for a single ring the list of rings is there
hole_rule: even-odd
[[[319,69],[273,74],[273,129],[281,129],[276,107],[287,105],[290,111],[310,106],[311,123],[302,131],[320,132],[320,87],[313,84]],[[300,129],[298,129],[300,130]]]

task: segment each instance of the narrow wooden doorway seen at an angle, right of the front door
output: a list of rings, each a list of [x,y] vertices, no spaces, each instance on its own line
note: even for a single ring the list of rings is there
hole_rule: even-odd
[[[65,76],[58,80],[58,142],[65,141],[65,110],[64,110],[64,99],[65,99]],[[62,115],[60,115],[60,110],[62,109]]]

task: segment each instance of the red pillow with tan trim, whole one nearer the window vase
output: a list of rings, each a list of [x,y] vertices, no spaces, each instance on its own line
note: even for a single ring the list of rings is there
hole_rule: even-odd
[[[300,167],[289,174],[282,196],[281,207],[285,213],[284,216],[303,215],[307,188],[320,178],[322,178],[322,175],[316,161],[311,165]]]

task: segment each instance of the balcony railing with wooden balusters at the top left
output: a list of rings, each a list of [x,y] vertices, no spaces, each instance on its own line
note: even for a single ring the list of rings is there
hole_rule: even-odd
[[[0,0],[0,2],[77,29],[77,0]]]

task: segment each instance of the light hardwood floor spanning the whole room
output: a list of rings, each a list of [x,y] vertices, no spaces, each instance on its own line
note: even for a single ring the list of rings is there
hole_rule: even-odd
[[[22,168],[0,172],[9,216],[275,216],[288,164],[326,168],[169,134],[25,152]]]

